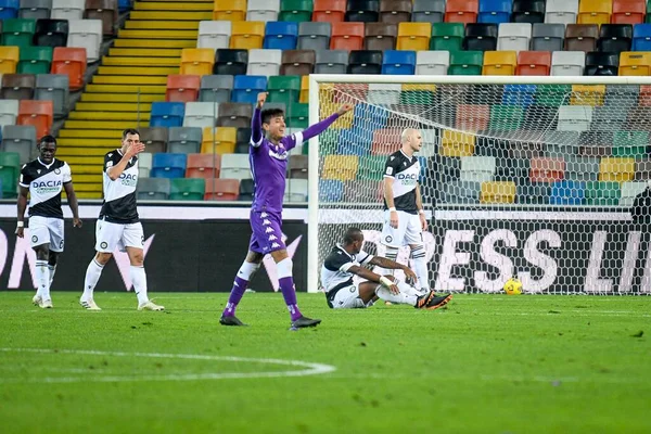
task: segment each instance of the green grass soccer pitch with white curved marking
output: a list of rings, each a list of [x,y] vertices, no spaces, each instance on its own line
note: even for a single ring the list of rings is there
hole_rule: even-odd
[[[299,294],[323,323],[298,332],[280,294],[245,295],[248,328],[217,323],[227,294],[30,299],[0,293],[3,434],[651,432],[649,297],[344,311]]]

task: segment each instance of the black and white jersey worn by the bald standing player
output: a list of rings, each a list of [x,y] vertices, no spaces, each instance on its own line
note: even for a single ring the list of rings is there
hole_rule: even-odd
[[[394,204],[397,210],[409,214],[418,214],[416,206],[416,186],[420,176],[420,162],[416,156],[408,157],[400,150],[394,152],[386,159],[384,166],[384,178],[393,178]],[[384,200],[384,209],[386,199]]]

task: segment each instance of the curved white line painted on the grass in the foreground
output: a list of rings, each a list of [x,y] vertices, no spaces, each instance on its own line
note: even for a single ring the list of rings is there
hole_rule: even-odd
[[[161,375],[104,375],[104,376],[60,376],[38,378],[34,380],[17,380],[0,378],[0,383],[77,383],[77,382],[136,382],[136,381],[196,381],[196,380],[225,380],[225,379],[260,379],[282,376],[306,376],[334,372],[335,367],[323,363],[312,363],[301,360],[283,360],[233,356],[209,356],[200,354],[162,354],[162,353],[123,353],[102,352],[94,349],[46,349],[46,348],[0,348],[4,353],[39,353],[39,354],[76,354],[88,356],[113,356],[113,357],[151,357],[163,359],[192,359],[215,361],[241,361],[250,363],[280,365],[305,368],[296,371],[269,371],[269,372],[206,372],[206,373],[170,373]]]

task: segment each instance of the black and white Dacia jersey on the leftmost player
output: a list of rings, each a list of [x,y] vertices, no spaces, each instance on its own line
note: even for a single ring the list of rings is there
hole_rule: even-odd
[[[61,190],[73,180],[71,166],[54,158],[46,165],[36,158],[21,168],[21,187],[29,189],[29,216],[63,218]]]

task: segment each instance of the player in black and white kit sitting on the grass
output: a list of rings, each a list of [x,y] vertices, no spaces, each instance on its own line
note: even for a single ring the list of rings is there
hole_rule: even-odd
[[[343,241],[343,244],[337,244],[332,250],[321,268],[321,283],[328,306],[331,308],[370,307],[378,298],[382,298],[418,309],[437,309],[452,298],[451,295],[436,296],[434,291],[421,295],[416,288],[400,282],[393,276],[380,276],[363,268],[363,265],[376,265],[386,269],[403,270],[407,280],[416,280],[414,272],[406,266],[363,252],[363,233],[359,228],[348,228]],[[355,284],[354,275],[366,279],[366,282]]]

